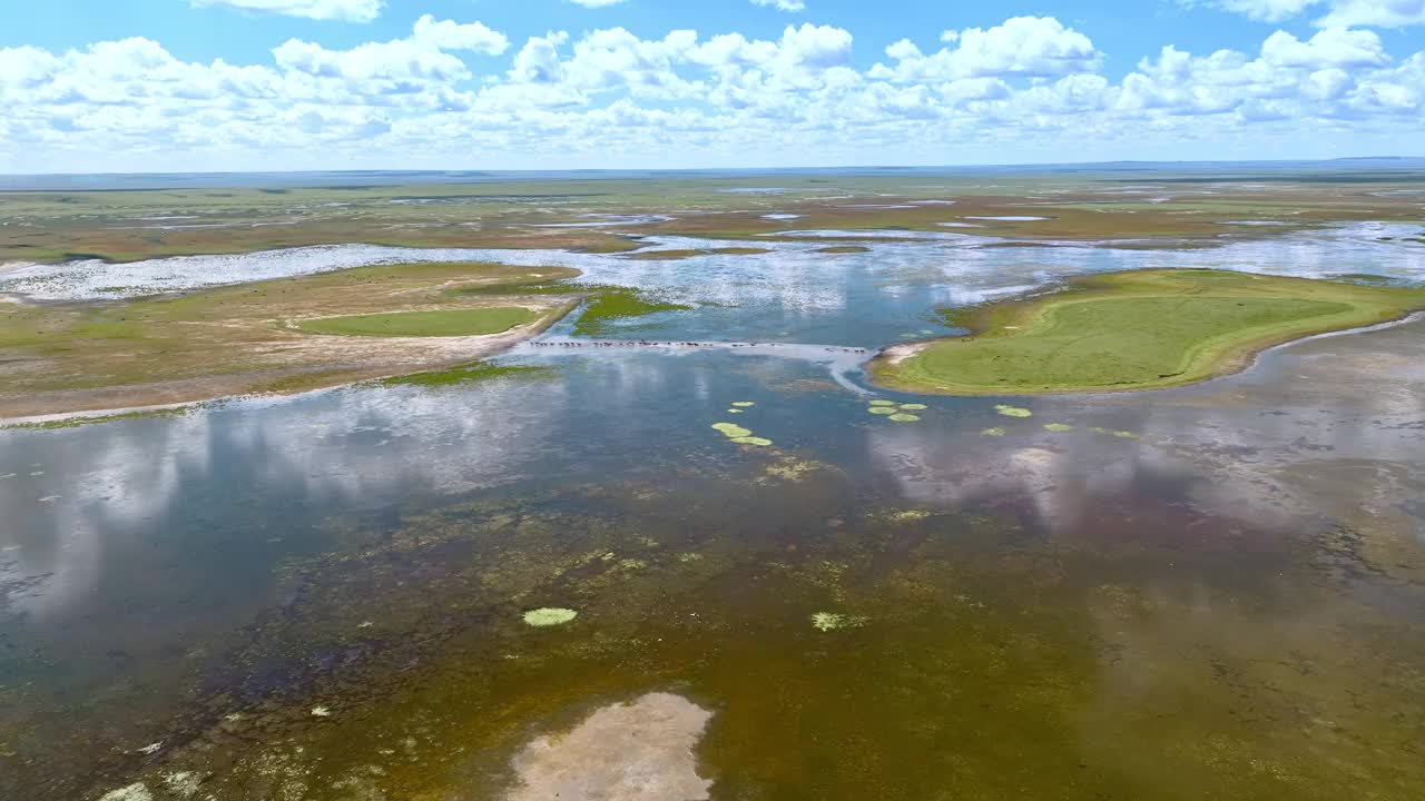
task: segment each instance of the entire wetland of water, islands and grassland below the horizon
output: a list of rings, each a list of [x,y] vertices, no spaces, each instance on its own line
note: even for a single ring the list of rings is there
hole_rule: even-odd
[[[1418,798],[1351,178],[0,192],[0,797]]]

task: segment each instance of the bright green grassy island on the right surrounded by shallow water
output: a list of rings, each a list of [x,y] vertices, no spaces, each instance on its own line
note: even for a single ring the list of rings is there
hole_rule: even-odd
[[[1267,348],[1398,319],[1425,288],[1218,269],[1073,278],[1059,292],[968,309],[969,336],[888,348],[882,386],[943,395],[1160,389],[1235,372]]]

